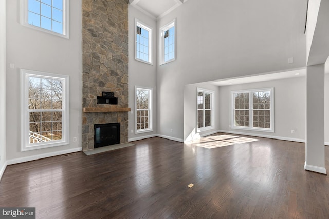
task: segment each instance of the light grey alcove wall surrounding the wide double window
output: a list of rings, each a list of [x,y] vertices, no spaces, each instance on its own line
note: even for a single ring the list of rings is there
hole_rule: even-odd
[[[220,88],[220,120],[222,131],[255,136],[275,137],[283,140],[305,141],[305,77],[280,79],[258,83],[223,86]],[[232,129],[231,91],[274,88],[275,132]],[[295,133],[291,133],[294,130]]]

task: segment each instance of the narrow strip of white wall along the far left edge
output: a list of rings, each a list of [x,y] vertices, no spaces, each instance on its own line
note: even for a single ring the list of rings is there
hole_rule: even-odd
[[[6,168],[6,1],[0,1],[0,180]]]

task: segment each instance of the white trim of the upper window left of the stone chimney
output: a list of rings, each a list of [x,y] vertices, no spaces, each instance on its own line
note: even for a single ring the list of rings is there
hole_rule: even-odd
[[[60,36],[66,39],[69,39],[69,0],[63,0],[63,34],[53,32],[51,30],[44,29],[42,27],[37,27],[28,23],[28,0],[21,0],[21,16],[20,22],[21,25],[39,30],[41,32],[49,33],[52,35]]]

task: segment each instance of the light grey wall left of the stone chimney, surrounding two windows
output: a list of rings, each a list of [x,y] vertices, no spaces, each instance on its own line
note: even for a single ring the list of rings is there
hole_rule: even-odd
[[[81,1],[70,1],[69,39],[20,25],[20,1],[7,0],[7,161],[8,164],[81,150]],[[9,68],[9,64],[15,68]],[[69,75],[70,144],[20,152],[20,69]],[[77,142],[72,142],[77,137]]]

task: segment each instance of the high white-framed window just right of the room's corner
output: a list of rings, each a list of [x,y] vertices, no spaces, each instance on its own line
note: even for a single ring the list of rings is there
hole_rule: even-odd
[[[176,60],[176,19],[160,28],[160,65]]]

